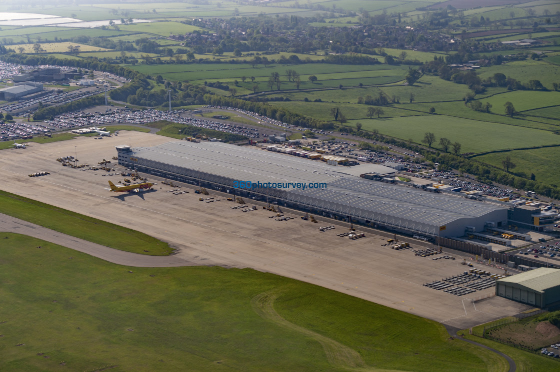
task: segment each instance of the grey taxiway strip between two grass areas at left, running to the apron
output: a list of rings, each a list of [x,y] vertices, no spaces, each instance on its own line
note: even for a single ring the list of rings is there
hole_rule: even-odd
[[[170,267],[170,266],[194,266],[194,263],[176,256],[147,256],[119,251],[92,242],[85,241],[70,235],[29,223],[12,216],[0,213],[0,231],[27,235],[43,239],[44,241],[59,244],[88,255],[101,258],[102,260],[118,263],[119,265],[134,267]],[[209,264],[207,262],[206,264]]]

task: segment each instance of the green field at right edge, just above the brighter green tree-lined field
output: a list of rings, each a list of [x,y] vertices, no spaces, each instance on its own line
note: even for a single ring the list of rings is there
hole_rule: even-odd
[[[483,68],[480,69],[479,76],[481,79],[487,78],[498,72],[522,83],[528,83],[533,79],[539,80],[549,90],[552,90],[553,82],[560,82],[560,66],[531,59]]]

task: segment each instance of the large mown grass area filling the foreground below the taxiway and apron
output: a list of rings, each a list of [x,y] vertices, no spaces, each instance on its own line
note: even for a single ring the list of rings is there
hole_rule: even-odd
[[[2,370],[507,370],[496,354],[449,340],[441,324],[305,282],[250,269],[125,267],[1,236],[10,303]]]

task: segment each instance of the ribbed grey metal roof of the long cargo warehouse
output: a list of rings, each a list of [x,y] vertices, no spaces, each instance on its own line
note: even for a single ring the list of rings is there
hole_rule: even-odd
[[[500,206],[452,195],[414,189],[394,183],[348,175],[347,167],[332,166],[264,149],[220,142],[168,142],[156,147],[133,148],[132,155],[200,173],[251,182],[324,182],[321,189],[283,189],[292,196],[335,203],[353,214],[375,211],[418,223],[441,226],[463,218],[481,218]],[[292,198],[293,199],[293,198]]]

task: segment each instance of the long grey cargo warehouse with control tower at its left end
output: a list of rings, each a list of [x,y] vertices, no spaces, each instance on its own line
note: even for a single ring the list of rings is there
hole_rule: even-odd
[[[119,164],[140,172],[268,200],[281,206],[426,237],[460,237],[487,223],[507,224],[507,209],[396,183],[367,180],[354,167],[220,142],[116,147]],[[388,168],[387,168],[388,169]],[[234,182],[251,187],[235,189]],[[260,184],[259,184],[260,182]],[[305,188],[292,183],[305,183]]]

